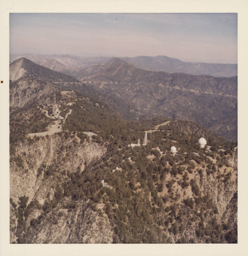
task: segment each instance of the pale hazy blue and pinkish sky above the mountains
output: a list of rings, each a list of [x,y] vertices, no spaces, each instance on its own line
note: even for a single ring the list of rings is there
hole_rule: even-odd
[[[11,13],[10,53],[237,63],[237,14]]]

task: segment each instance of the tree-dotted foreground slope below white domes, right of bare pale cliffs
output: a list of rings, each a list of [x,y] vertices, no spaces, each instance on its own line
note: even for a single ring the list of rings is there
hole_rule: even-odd
[[[147,159],[151,154],[155,155],[152,161]],[[213,177],[220,173],[218,166],[205,156],[200,157],[195,168],[188,156],[159,155],[151,147],[117,150],[111,160],[95,167],[98,180],[105,179],[111,186],[92,199],[104,203],[104,211],[114,226],[114,242],[235,242],[235,231],[229,239],[228,232],[223,231],[228,223],[216,221],[217,206],[200,189],[204,175]],[[132,162],[128,160],[130,156]],[[113,173],[116,166],[118,170]],[[228,186],[231,176],[236,176],[236,172],[222,174],[217,183]],[[187,196],[188,190],[191,197]],[[195,234],[188,236],[192,230]]]

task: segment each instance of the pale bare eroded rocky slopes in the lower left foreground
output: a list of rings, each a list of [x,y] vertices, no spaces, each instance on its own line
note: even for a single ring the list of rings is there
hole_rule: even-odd
[[[22,212],[13,207],[14,203],[11,205],[11,242],[112,242],[107,216],[93,211],[88,199],[68,199],[64,205],[54,200],[62,196],[60,189],[66,175],[83,172],[92,159],[105,153],[103,146],[91,141],[80,144],[77,137],[51,135],[29,138],[13,148],[18,154],[10,161],[11,202],[27,206]]]

